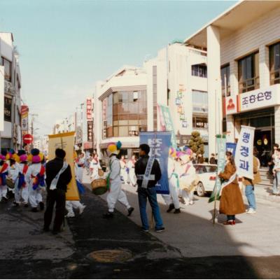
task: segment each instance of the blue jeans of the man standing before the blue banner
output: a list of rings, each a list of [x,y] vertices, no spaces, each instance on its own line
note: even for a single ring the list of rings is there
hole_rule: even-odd
[[[160,216],[160,207],[158,207],[157,193],[155,187],[153,188],[138,188],[138,201],[141,216],[141,222],[144,230],[148,230],[148,217],[146,213],[147,198],[151,204],[153,211],[153,218],[155,219],[155,230],[162,228],[162,218]]]

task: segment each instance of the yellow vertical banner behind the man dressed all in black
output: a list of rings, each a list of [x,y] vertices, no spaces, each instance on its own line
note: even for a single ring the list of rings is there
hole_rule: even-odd
[[[74,169],[74,138],[75,132],[48,136],[48,159],[53,160],[55,158],[55,150],[62,148],[66,152],[65,160],[71,167],[72,179],[67,186],[66,200],[80,200]]]

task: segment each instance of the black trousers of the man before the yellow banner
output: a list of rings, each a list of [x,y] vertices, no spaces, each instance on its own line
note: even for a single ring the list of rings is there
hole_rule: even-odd
[[[52,211],[55,206],[55,221],[53,223],[53,230],[55,232],[60,231],[65,213],[65,200],[65,190],[48,190],[47,207],[44,215],[44,228],[50,228],[50,223],[52,223]]]

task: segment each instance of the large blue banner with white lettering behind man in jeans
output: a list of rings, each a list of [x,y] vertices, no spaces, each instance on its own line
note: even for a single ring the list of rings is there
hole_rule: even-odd
[[[149,160],[150,165],[148,162],[144,180],[145,176],[148,179],[151,174],[153,160],[158,160],[160,164],[160,170],[162,172],[162,177],[156,185],[156,190],[157,193],[160,193],[162,195],[169,194],[167,167],[171,137],[171,132],[140,132],[140,144],[148,144],[148,146],[150,146],[151,148],[151,151],[149,153],[151,159]]]

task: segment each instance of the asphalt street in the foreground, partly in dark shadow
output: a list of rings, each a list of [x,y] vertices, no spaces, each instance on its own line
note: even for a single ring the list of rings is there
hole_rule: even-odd
[[[120,213],[116,212],[113,220],[104,220],[105,196],[87,190],[85,212],[69,219],[66,230],[57,236],[41,231],[42,212],[1,203],[1,278],[280,277],[277,204],[259,202],[258,214],[238,216],[235,227],[219,223],[213,227],[213,204],[208,204],[207,198],[197,199],[179,215],[165,213],[167,207],[160,200],[167,230],[146,234],[139,227],[135,190],[130,186],[125,190],[135,207],[131,218],[118,204]],[[113,249],[130,257],[125,262],[106,262],[109,255],[105,260],[89,256],[93,251]]]

